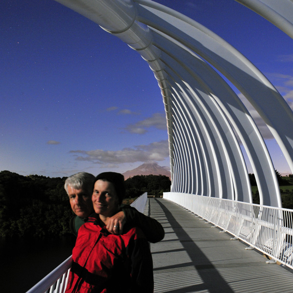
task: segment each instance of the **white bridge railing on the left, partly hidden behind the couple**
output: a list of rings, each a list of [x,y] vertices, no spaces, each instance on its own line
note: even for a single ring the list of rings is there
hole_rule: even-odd
[[[146,200],[147,193],[144,193],[130,205],[143,213],[146,206]],[[72,259],[70,255],[61,265],[55,270],[52,270],[26,293],[64,293],[71,265]]]

